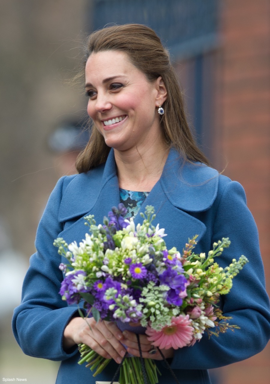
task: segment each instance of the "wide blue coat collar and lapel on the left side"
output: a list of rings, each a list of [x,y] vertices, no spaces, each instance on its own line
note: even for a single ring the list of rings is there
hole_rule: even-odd
[[[87,232],[84,217],[94,215],[97,224],[103,223],[104,216],[119,202],[119,184],[111,151],[106,164],[77,175],[65,189],[58,215],[64,230],[59,237],[67,243],[80,242]]]

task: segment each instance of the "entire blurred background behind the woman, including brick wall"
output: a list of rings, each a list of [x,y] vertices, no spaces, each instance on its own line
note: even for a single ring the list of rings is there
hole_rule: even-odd
[[[107,23],[151,26],[169,49],[190,124],[213,167],[246,190],[270,292],[270,1],[1,0],[0,379],[54,384],[57,362],[23,355],[10,327],[35,231],[56,181],[85,145],[86,98],[70,85],[84,37]],[[256,332],[256,329],[254,329]],[[270,346],[211,372],[269,384]]]

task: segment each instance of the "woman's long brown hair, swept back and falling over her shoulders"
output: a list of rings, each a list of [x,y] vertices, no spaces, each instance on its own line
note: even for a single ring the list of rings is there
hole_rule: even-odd
[[[188,126],[183,92],[171,65],[169,53],[156,33],[141,24],[113,25],[92,33],[86,43],[83,73],[91,53],[108,50],[126,53],[131,63],[142,71],[149,81],[162,77],[168,93],[163,103],[165,113],[161,118],[161,129],[166,144],[168,147],[175,147],[186,161],[199,161],[209,165]],[[103,136],[93,125],[90,140],[77,158],[78,172],[87,172],[106,161],[109,151]]]

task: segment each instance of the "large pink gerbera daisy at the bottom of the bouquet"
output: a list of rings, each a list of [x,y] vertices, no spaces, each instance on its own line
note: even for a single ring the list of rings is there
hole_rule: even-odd
[[[149,336],[148,340],[155,347],[160,349],[174,349],[183,348],[188,345],[193,338],[193,328],[190,325],[191,320],[188,315],[173,317],[171,325],[155,331],[150,326],[146,329],[146,334]]]

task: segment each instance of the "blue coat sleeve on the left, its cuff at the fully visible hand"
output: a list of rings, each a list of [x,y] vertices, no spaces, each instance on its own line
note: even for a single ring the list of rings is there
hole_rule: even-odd
[[[51,360],[64,360],[77,352],[74,348],[65,353],[62,348],[65,326],[77,313],[77,306],[67,306],[59,295],[63,280],[59,270],[61,257],[53,246],[62,231],[62,223],[58,221],[62,192],[72,177],[61,178],[50,195],[37,229],[37,252],[30,258],[22,302],[15,308],[12,319],[13,333],[23,352]]]

